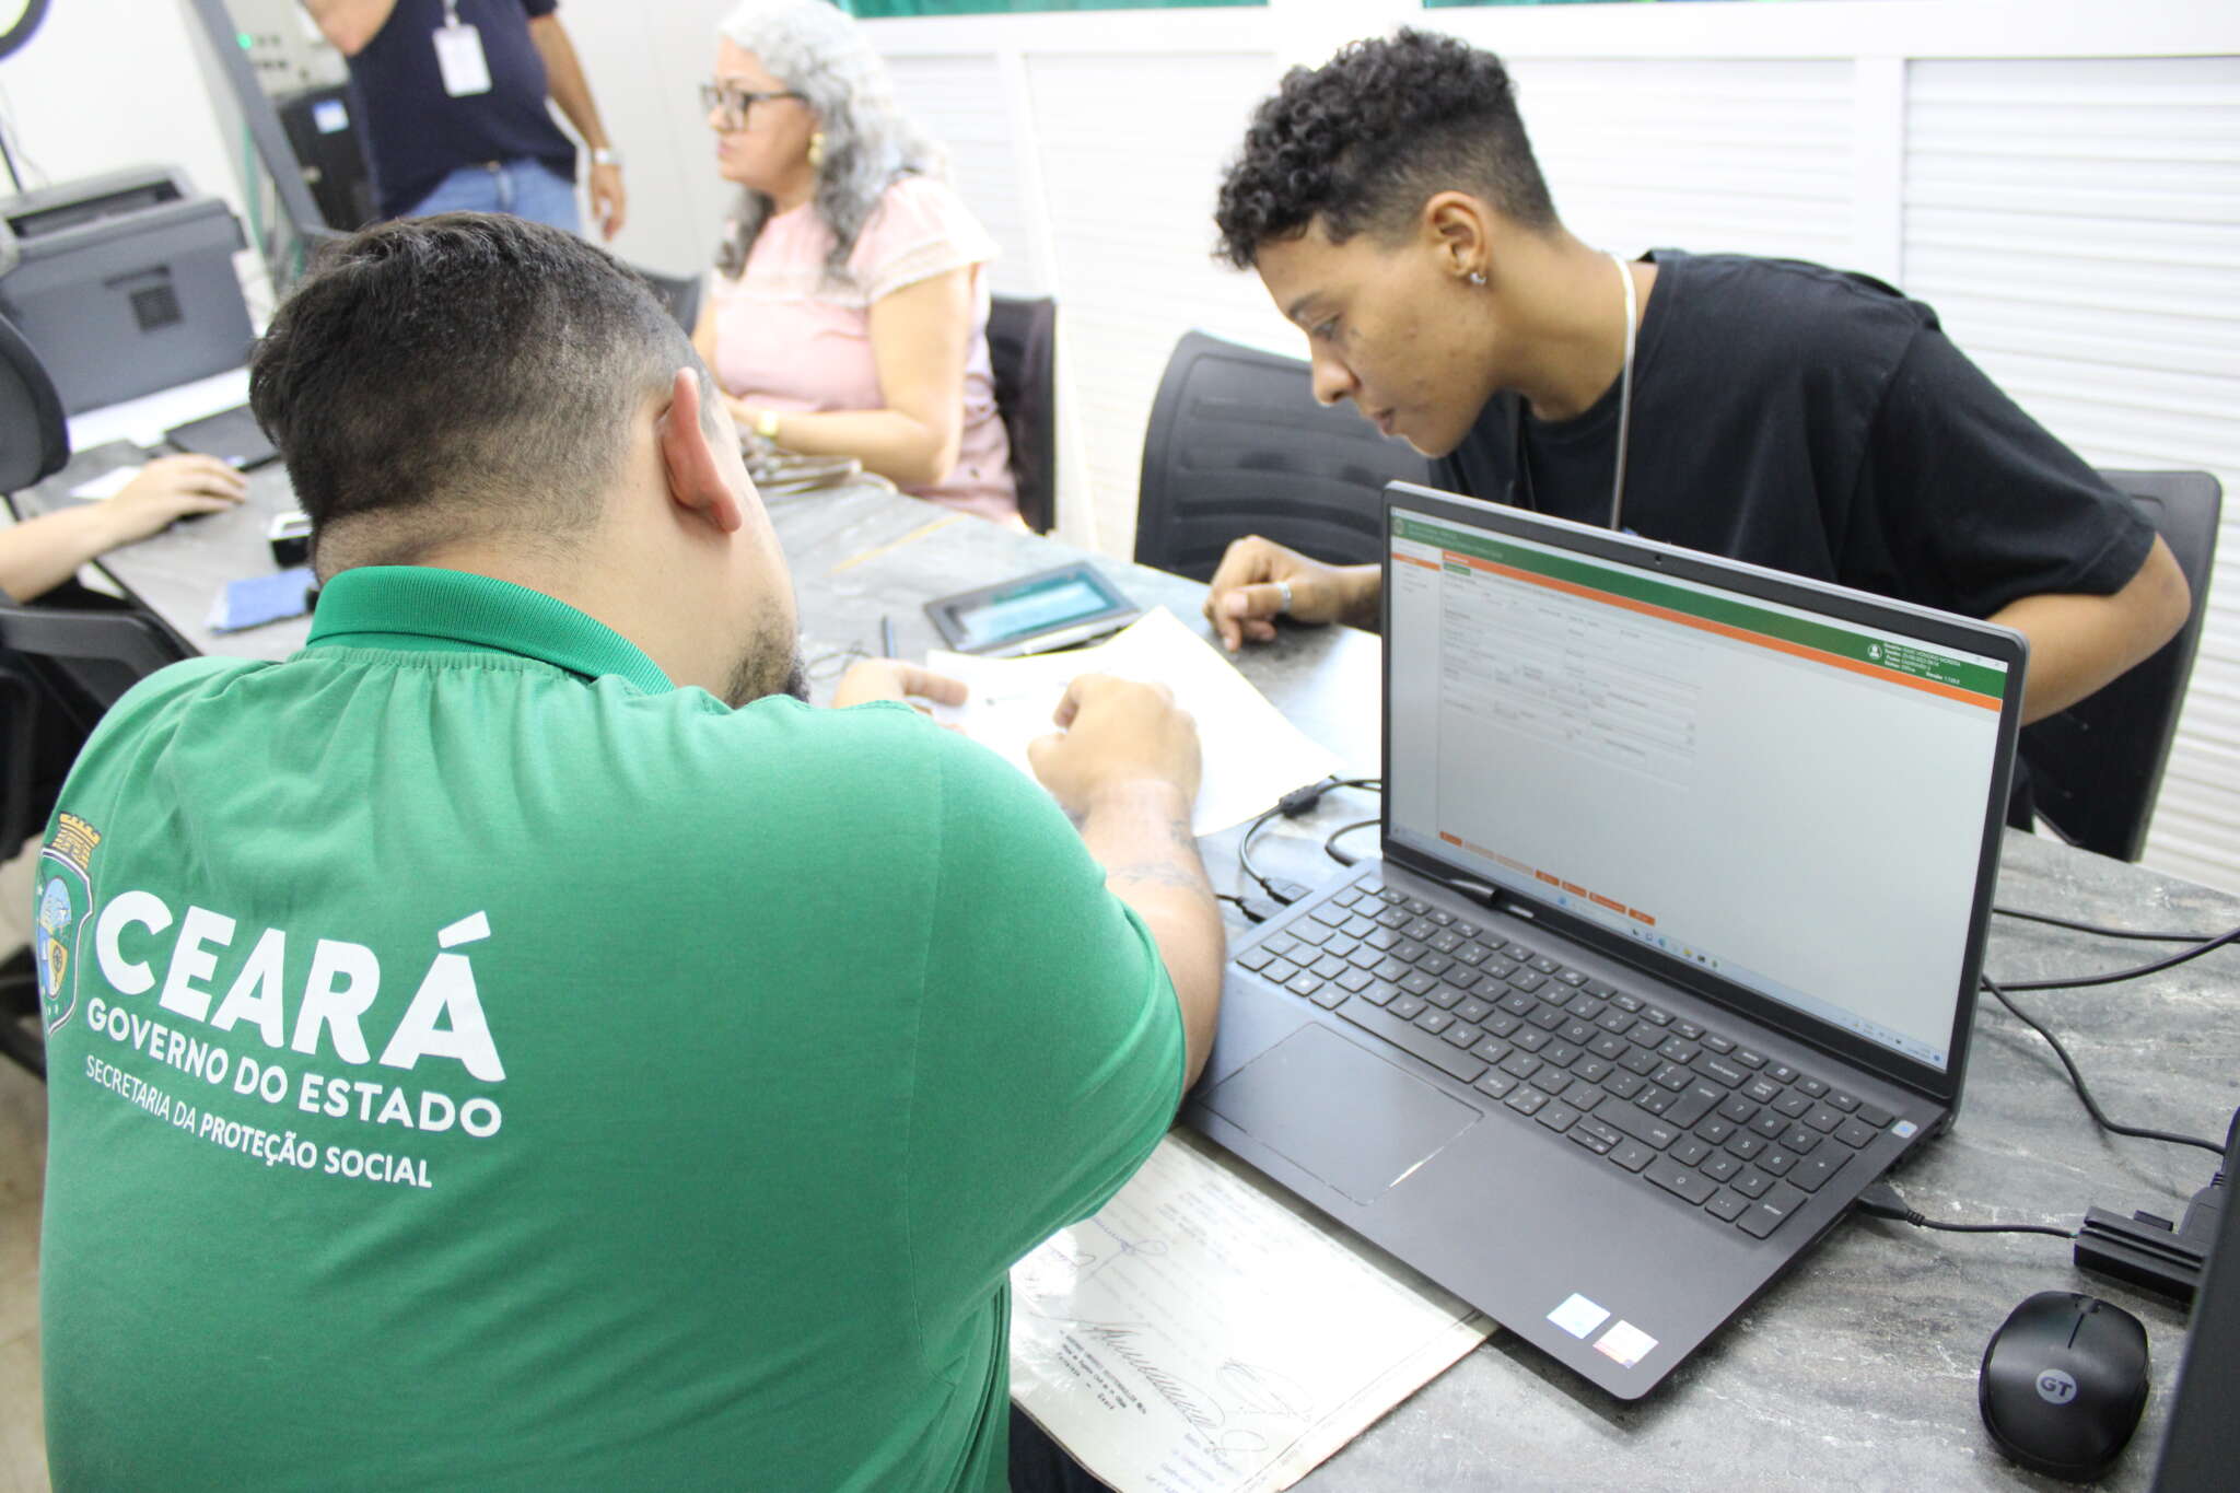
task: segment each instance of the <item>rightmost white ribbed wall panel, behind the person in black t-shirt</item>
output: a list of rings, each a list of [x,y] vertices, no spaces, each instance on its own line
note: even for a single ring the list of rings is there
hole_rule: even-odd
[[[2148,860],[2240,884],[2240,58],[1913,63],[1904,278],[2088,461],[2224,483]]]

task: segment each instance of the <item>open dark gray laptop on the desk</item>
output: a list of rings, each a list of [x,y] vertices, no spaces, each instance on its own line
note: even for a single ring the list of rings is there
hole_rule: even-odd
[[[1232,949],[1183,1115],[1637,1399],[1951,1124],[2027,645],[1382,506],[1384,855]]]

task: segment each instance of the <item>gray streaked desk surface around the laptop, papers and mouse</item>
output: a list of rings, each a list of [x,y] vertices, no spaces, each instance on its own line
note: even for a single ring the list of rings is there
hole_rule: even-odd
[[[103,448],[105,452],[108,448]],[[90,452],[60,483],[101,470]],[[114,457],[108,461],[114,463]],[[38,506],[36,495],[29,506]],[[278,468],[253,475],[255,513],[197,519],[116,551],[108,569],[184,636],[220,654],[282,658],[302,625],[231,638],[202,627],[215,586],[269,566],[262,513],[289,506]],[[842,490],[771,504],[793,562],[804,654],[829,694],[853,654],[878,651],[894,620],[905,656],[939,638],[923,602],[1071,555],[889,492]],[[1203,589],[1100,562],[1138,602],[1198,622]],[[1378,640],[1346,629],[1286,629],[1239,667],[1299,725],[1357,768],[1375,770]],[[1297,826],[1270,826],[1266,871],[1319,880],[1319,839],[1375,813],[1333,795]],[[1241,891],[1236,833],[1205,844],[1216,886]],[[2000,902],[2155,929],[2240,924],[2240,898],[2029,835],[2007,837]],[[2153,958],[2124,945],[2007,918],[1994,920],[1987,969],[2038,978]],[[2240,949],[2101,989],[2018,996],[2072,1041],[2101,1106],[2117,1119],[2222,1137],[2240,1101]],[[2088,1204],[2177,1215],[2209,1182],[2213,1157],[2097,1135],[2045,1043],[1991,1003],[1958,1126],[1895,1182],[1931,1218],[2059,1222]],[[1519,1220],[1510,1247],[1561,1249],[1543,1220]],[[1364,1493],[1420,1489],[2054,1489],[2003,1462],[1976,1415],[1976,1365],[2005,1314],[2032,1292],[2079,1289],[2132,1309],[2148,1330],[2155,1392],[2110,1489],[2146,1489],[2162,1444],[2184,1314],[2117,1280],[2088,1276],[2045,1236],[1929,1233],[1879,1220],[1839,1227],[1747,1307],[1651,1399],[1620,1406],[1494,1334],[1447,1374],[1317,1468],[1304,1486]]]

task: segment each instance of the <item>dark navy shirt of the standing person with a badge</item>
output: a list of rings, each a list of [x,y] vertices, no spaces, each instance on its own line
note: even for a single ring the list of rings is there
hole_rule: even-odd
[[[459,25],[482,34],[491,92],[452,98],[435,60],[444,0],[396,0],[388,22],[349,58],[349,96],[365,121],[365,154],[381,215],[419,206],[444,177],[484,161],[535,159],[576,179],[576,145],[544,107],[544,56],[529,22],[560,0],[455,0]]]

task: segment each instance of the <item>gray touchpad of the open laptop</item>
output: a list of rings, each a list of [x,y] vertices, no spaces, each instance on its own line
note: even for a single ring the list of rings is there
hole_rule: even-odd
[[[1478,1119],[1460,1099],[1315,1025],[1223,1079],[1205,1106],[1364,1204]]]

